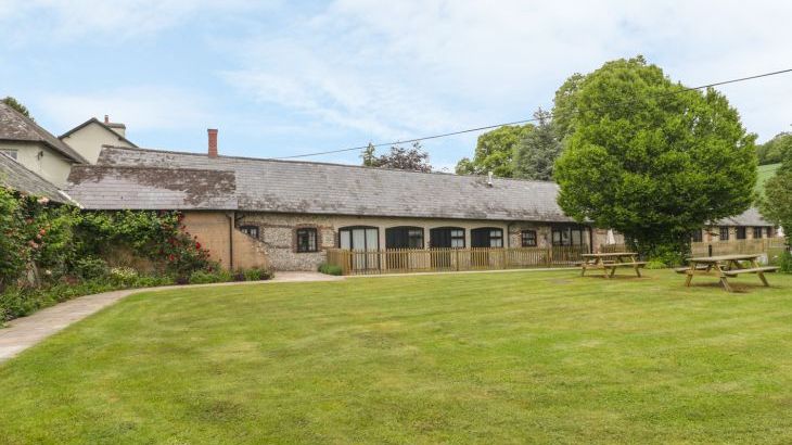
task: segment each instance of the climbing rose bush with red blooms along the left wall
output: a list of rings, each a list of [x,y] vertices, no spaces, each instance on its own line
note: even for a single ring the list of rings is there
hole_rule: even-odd
[[[26,269],[51,282],[64,276],[95,278],[101,267],[91,260],[117,246],[150,259],[161,274],[216,270],[182,219],[179,212],[81,212],[0,188],[0,292]]]

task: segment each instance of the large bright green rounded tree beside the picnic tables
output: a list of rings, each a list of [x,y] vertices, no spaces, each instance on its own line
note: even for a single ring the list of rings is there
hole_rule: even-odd
[[[643,58],[575,81],[555,164],[559,204],[611,227],[639,252],[687,251],[691,230],[749,208],[755,136],[713,89],[686,90]]]

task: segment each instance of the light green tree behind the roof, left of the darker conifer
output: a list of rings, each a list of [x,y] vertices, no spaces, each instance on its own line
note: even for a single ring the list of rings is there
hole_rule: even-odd
[[[514,154],[520,141],[534,129],[531,124],[504,125],[478,137],[472,160],[463,157],[457,164],[457,175],[486,175],[511,178]]]

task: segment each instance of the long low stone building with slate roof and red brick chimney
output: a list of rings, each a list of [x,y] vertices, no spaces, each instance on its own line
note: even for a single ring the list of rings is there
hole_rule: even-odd
[[[226,267],[260,254],[276,269],[315,270],[328,247],[606,242],[563,214],[553,182],[220,156],[216,138],[205,154],[104,147],[95,165],[75,166],[67,192],[88,209],[182,211]]]

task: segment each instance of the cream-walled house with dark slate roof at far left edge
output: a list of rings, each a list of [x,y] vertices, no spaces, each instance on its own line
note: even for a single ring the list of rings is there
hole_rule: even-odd
[[[29,117],[0,102],[0,152],[58,187],[73,165],[88,161]]]

